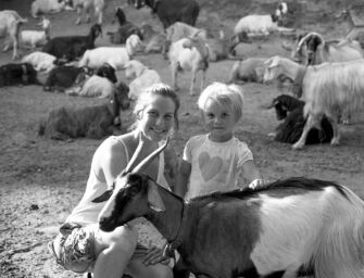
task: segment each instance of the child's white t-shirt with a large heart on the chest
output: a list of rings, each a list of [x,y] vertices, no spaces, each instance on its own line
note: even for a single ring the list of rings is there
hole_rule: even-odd
[[[246,142],[233,137],[227,142],[213,142],[209,135],[188,140],[184,160],[191,163],[191,175],[186,199],[238,188],[238,174],[253,154]]]

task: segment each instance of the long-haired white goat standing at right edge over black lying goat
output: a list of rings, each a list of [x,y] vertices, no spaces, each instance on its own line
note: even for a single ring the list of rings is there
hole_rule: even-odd
[[[289,59],[273,56],[265,62],[264,80],[272,80],[284,74],[297,76],[303,72],[302,91],[298,97],[305,102],[303,115],[306,118],[302,135],[292,148],[302,149],[307,132],[326,115],[334,130],[331,146],[339,144],[338,119],[342,112],[351,114],[364,106],[364,60],[341,63],[324,63],[303,66]],[[293,73],[293,74],[292,74]],[[296,79],[296,78],[292,78]]]

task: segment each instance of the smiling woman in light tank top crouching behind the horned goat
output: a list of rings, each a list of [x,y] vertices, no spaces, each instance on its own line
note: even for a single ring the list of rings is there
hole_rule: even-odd
[[[161,140],[178,127],[178,109],[177,94],[168,86],[153,85],[137,100],[134,110],[136,129],[122,136],[111,136],[99,146],[83,199],[49,244],[60,265],[76,273],[91,271],[93,278],[121,278],[124,273],[138,278],[173,277],[172,269],[160,264],[167,262],[160,249],[147,250],[137,244],[137,229],[131,224],[111,232],[101,231],[98,215],[105,202],[93,203],[92,200],[112,187],[116,176],[131,160],[140,140],[143,148],[134,165],[158,149]],[[173,169],[175,165],[175,153],[166,149],[143,173],[168,188],[164,169]]]

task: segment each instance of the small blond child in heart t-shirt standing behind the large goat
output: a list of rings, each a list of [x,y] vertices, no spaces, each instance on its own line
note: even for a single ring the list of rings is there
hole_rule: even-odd
[[[247,143],[234,137],[242,103],[242,91],[236,85],[214,83],[202,91],[198,105],[208,134],[186,143],[175,193],[189,200],[236,189],[240,172],[251,182],[250,188],[264,184]]]

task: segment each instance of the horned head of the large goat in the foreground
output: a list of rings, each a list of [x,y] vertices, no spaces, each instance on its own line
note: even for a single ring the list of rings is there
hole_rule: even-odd
[[[167,142],[168,140],[131,170],[142,149],[141,139],[125,170],[114,180],[112,189],[92,201],[106,201],[99,214],[101,230],[112,231],[134,218],[165,210],[158,192],[159,186],[150,177],[139,173],[164,150]]]

